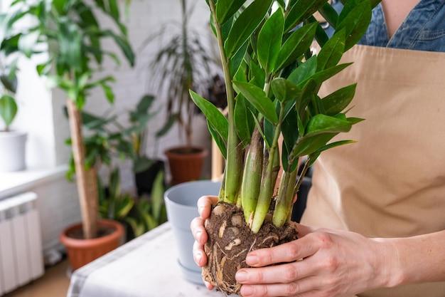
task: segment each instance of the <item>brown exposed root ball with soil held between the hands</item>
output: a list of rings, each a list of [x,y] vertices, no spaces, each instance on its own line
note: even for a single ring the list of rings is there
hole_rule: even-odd
[[[205,226],[209,240],[204,247],[208,265],[203,269],[203,278],[230,295],[240,291],[241,285],[236,282],[235,274],[248,267],[247,254],[296,239],[296,229],[289,224],[277,229],[266,222],[258,234],[253,234],[241,209],[230,204],[218,204],[216,208],[218,214],[212,212]]]

